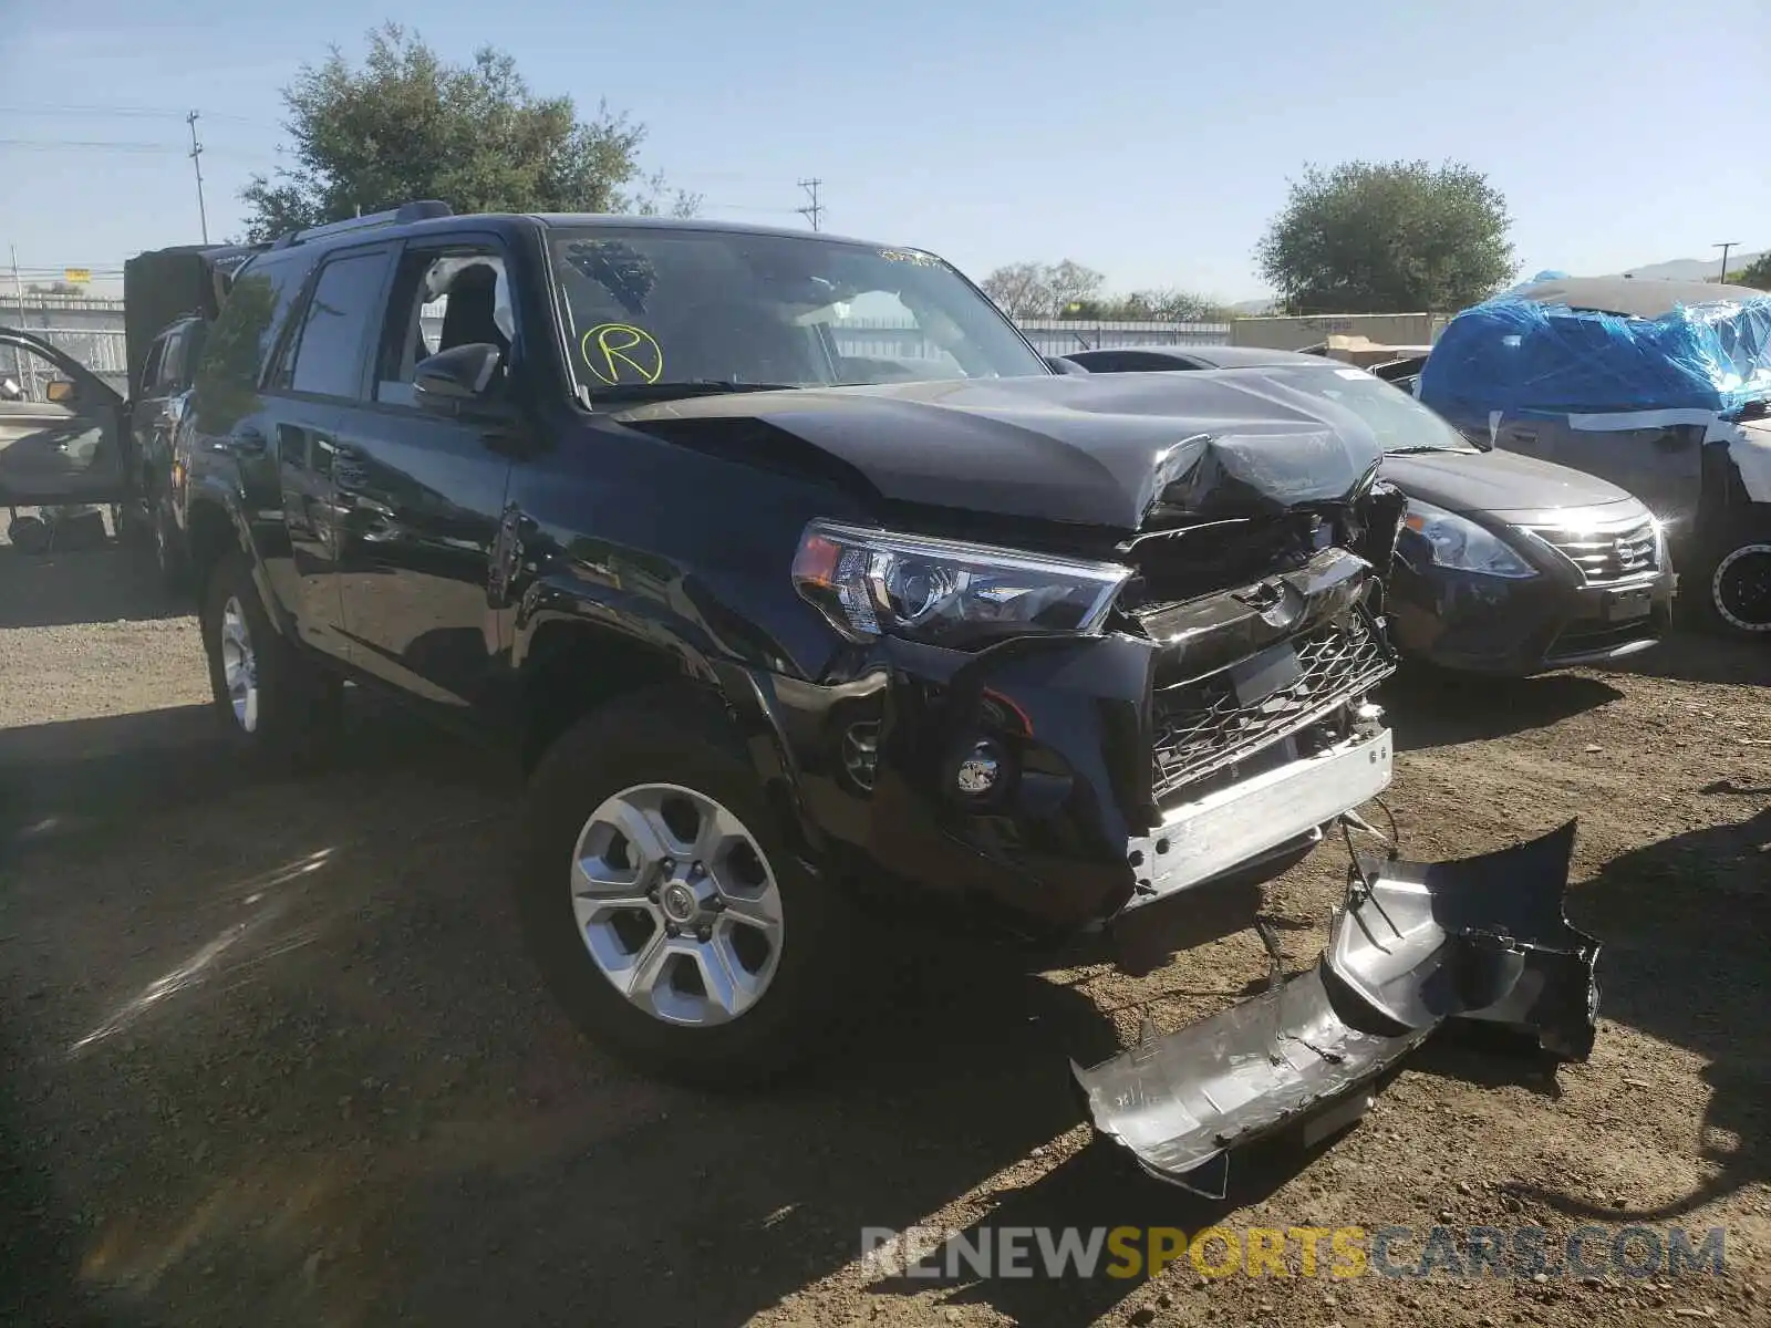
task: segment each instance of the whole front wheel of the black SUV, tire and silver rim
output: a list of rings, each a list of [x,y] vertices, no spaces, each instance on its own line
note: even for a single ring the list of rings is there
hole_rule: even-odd
[[[703,1087],[813,1055],[854,972],[847,901],[786,850],[724,714],[661,689],[592,714],[531,788],[524,935],[595,1041]]]

